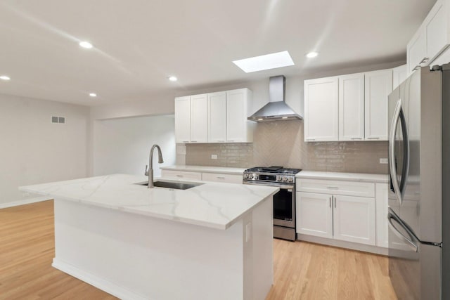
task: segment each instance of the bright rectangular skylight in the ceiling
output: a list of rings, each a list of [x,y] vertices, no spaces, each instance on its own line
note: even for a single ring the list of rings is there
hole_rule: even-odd
[[[293,59],[290,57],[288,51],[266,54],[265,56],[255,56],[253,58],[245,58],[242,60],[234,60],[233,63],[240,67],[245,73],[294,65]]]

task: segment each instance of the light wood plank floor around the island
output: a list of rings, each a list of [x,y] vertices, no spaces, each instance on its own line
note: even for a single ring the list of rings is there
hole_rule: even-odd
[[[51,267],[53,238],[53,201],[0,209],[1,300],[116,299]],[[269,299],[396,297],[383,256],[274,240],[274,286]]]

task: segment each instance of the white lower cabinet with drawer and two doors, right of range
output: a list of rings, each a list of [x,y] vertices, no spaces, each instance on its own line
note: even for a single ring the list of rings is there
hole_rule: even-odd
[[[361,193],[361,183],[311,181],[316,189],[321,189],[322,182],[328,193],[308,193],[302,191],[302,185],[308,189],[309,180],[303,181],[306,183],[302,184],[302,179],[297,181],[297,233],[375,245],[375,198],[354,196]],[[368,185],[374,194],[374,184]],[[359,190],[349,189],[352,186]],[[342,195],[345,190],[350,195]]]

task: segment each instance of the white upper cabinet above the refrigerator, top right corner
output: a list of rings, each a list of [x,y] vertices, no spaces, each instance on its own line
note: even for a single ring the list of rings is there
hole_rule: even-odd
[[[435,6],[409,41],[406,51],[408,74],[417,67],[431,65],[450,44],[450,1],[437,0]]]

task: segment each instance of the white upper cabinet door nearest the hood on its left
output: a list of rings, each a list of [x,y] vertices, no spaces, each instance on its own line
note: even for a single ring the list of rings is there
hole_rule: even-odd
[[[248,89],[226,91],[226,141],[252,142],[247,119]]]

